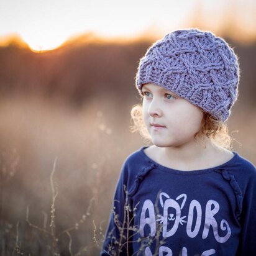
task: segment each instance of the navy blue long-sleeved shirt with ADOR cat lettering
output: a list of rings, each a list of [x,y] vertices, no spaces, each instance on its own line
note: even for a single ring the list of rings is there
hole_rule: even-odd
[[[101,255],[255,255],[256,170],[237,152],[228,162],[181,171],[126,158]]]

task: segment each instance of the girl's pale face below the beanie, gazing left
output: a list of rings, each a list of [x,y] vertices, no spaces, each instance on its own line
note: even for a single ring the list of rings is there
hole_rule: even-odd
[[[195,143],[194,134],[201,129],[203,119],[199,107],[153,83],[143,85],[142,92],[143,118],[154,145],[178,147]]]

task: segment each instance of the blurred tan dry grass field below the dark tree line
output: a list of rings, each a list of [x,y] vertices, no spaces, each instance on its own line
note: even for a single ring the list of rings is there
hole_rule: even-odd
[[[2,255],[99,254],[122,162],[144,144],[129,132],[132,104],[1,99]],[[228,124],[255,164],[255,110],[237,106]]]

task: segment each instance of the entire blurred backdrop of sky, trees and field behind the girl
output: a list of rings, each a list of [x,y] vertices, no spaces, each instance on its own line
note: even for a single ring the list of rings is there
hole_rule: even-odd
[[[0,0],[0,254],[99,254],[122,163],[145,145],[129,130],[139,58],[171,30],[211,30],[239,55],[227,125],[256,164],[255,13],[252,0]]]

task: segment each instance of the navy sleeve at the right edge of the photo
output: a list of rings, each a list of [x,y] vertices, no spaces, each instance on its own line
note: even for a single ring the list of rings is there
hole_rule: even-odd
[[[240,219],[241,234],[237,255],[255,255],[256,252],[256,169],[250,177],[244,193]]]

